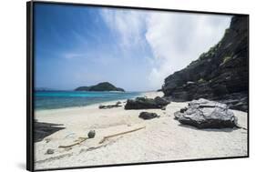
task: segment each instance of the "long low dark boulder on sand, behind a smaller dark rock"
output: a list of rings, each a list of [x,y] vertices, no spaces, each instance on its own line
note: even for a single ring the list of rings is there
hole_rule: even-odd
[[[128,99],[125,109],[149,109],[163,108],[169,101],[157,96],[156,98],[137,97],[135,100]]]

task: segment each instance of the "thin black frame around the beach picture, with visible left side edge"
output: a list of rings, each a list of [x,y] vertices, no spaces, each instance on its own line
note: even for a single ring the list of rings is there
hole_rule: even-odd
[[[247,156],[239,157],[209,157],[209,158],[194,158],[194,159],[180,159],[169,161],[149,161],[138,163],[124,163],[124,164],[109,164],[97,166],[83,166],[83,167],[57,167],[57,168],[44,168],[35,169],[35,142],[34,142],[34,86],[35,86],[35,36],[34,36],[34,5],[35,4],[48,4],[48,5],[77,5],[77,6],[90,6],[90,7],[107,7],[114,9],[134,9],[134,10],[147,10],[147,11],[162,11],[162,12],[178,12],[189,14],[204,14],[204,15],[243,15],[247,17],[248,27],[248,117],[247,117]],[[50,171],[50,170],[63,170],[63,169],[80,169],[91,167],[120,167],[120,166],[134,166],[134,165],[153,165],[174,162],[192,162],[192,161],[205,161],[205,160],[220,160],[220,159],[234,159],[250,157],[250,15],[237,14],[237,13],[221,13],[209,11],[190,11],[179,9],[167,8],[152,8],[152,7],[138,7],[138,6],[122,6],[122,5],[95,5],[95,4],[82,4],[82,3],[69,3],[69,2],[53,2],[53,1],[28,1],[26,2],[26,170],[29,171]]]

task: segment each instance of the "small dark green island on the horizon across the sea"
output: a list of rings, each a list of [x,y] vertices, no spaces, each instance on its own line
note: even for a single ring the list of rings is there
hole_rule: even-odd
[[[75,91],[120,91],[125,92],[123,88],[116,87],[108,82],[98,83],[95,86],[79,86]]]

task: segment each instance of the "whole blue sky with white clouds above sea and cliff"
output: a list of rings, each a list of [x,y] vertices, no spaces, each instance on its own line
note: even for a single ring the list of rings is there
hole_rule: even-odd
[[[147,91],[217,44],[230,16],[36,4],[35,21],[36,87]]]

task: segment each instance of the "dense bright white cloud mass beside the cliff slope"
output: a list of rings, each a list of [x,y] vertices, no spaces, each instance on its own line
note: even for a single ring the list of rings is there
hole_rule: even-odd
[[[154,13],[148,16],[146,38],[156,66],[148,76],[150,86],[160,87],[166,76],[188,66],[220,41],[230,16]]]

